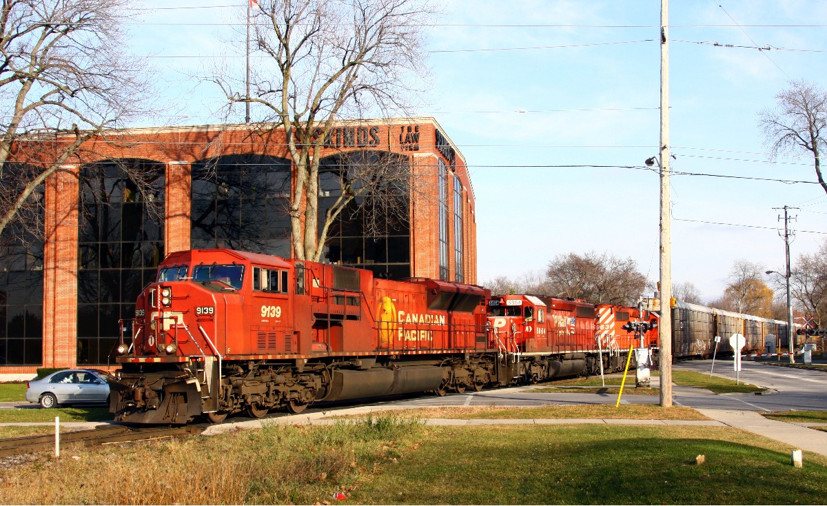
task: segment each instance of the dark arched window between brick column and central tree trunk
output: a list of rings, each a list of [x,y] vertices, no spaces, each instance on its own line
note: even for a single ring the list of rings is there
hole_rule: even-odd
[[[193,164],[191,245],[290,256],[290,163],[227,155]]]

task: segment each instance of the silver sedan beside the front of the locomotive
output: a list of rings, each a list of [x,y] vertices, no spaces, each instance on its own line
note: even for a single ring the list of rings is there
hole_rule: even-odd
[[[109,403],[108,378],[105,370],[69,369],[54,372],[42,380],[26,383],[26,400],[44,408],[61,405]]]

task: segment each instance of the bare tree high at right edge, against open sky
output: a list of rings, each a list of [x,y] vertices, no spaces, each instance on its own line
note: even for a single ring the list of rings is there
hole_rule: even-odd
[[[772,156],[796,150],[812,155],[815,175],[827,193],[820,155],[827,132],[827,93],[815,84],[791,81],[789,88],[776,95],[776,106],[760,112],[758,119]]]

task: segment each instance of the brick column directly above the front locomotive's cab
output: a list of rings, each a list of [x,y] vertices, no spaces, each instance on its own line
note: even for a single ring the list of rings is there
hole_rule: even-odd
[[[192,184],[189,162],[166,163],[164,255],[190,249]]]

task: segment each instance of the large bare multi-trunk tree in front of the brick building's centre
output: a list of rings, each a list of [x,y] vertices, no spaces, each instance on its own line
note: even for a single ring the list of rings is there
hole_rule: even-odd
[[[406,164],[387,164],[378,174],[382,183],[371,167],[350,164],[339,173],[341,198],[318,226],[319,155],[330,145],[335,122],[365,111],[405,110],[413,78],[423,70],[421,36],[428,15],[425,0],[259,0],[251,21],[253,45],[267,59],[252,69],[251,93],[230,75],[213,78],[231,106],[256,105],[262,128],[287,129],[297,172],[289,206],[297,258],[318,260],[333,220],[359,197],[376,202],[389,179],[394,193],[408,194],[414,178]],[[370,144],[370,131],[352,135],[353,146]]]

